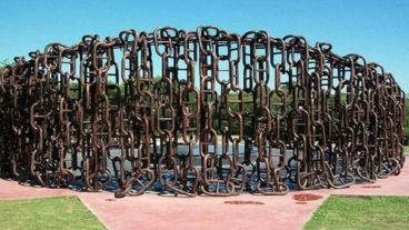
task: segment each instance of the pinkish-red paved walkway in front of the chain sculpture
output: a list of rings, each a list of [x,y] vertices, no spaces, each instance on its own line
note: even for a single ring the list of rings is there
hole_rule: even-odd
[[[67,189],[31,188],[0,180],[0,199],[78,196],[109,229],[301,229],[329,194],[409,196],[409,166],[398,177],[348,189],[290,192],[283,197],[179,198],[143,194],[113,199],[110,192],[88,193]],[[368,188],[375,187],[375,188]],[[313,193],[322,199],[297,203],[293,194]],[[228,204],[225,201],[259,201],[265,204]]]

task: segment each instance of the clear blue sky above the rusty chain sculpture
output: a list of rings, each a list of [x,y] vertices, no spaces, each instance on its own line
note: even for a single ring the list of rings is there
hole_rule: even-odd
[[[83,34],[118,36],[171,26],[212,24],[231,32],[266,30],[330,42],[339,54],[360,53],[381,63],[409,91],[407,0],[2,0],[0,61],[27,56],[49,42],[77,43]]]

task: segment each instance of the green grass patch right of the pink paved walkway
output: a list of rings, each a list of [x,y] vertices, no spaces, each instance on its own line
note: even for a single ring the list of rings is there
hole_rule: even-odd
[[[409,197],[331,196],[305,229],[409,229]]]

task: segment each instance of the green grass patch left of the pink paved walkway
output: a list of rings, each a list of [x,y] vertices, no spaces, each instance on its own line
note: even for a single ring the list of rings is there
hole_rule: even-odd
[[[77,197],[0,200],[0,229],[106,229]]]

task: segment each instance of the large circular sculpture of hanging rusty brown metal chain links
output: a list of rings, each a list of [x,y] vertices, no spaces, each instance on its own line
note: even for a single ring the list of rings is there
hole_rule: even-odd
[[[405,93],[305,38],[124,30],[16,58],[0,79],[0,170],[117,197],[345,188],[398,174]]]

